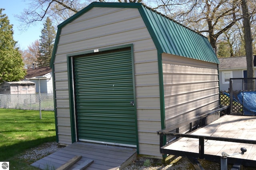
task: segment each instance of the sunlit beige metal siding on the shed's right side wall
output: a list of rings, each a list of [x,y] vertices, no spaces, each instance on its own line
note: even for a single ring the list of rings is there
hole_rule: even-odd
[[[166,127],[219,106],[217,64],[164,54],[162,65]]]

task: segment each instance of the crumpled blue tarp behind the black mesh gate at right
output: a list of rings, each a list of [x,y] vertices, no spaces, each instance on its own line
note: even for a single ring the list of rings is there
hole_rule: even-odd
[[[256,115],[256,92],[240,92],[237,97],[245,115]]]

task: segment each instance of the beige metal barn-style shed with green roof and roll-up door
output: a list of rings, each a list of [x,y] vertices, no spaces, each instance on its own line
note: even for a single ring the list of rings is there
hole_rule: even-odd
[[[218,108],[218,62],[206,37],[143,4],[93,2],[58,25],[57,141],[162,158],[156,131]]]

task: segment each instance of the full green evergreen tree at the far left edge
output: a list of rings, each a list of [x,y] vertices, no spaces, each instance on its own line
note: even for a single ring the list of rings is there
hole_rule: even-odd
[[[19,81],[26,75],[21,54],[15,47],[12,25],[3,10],[0,9],[0,83]]]

